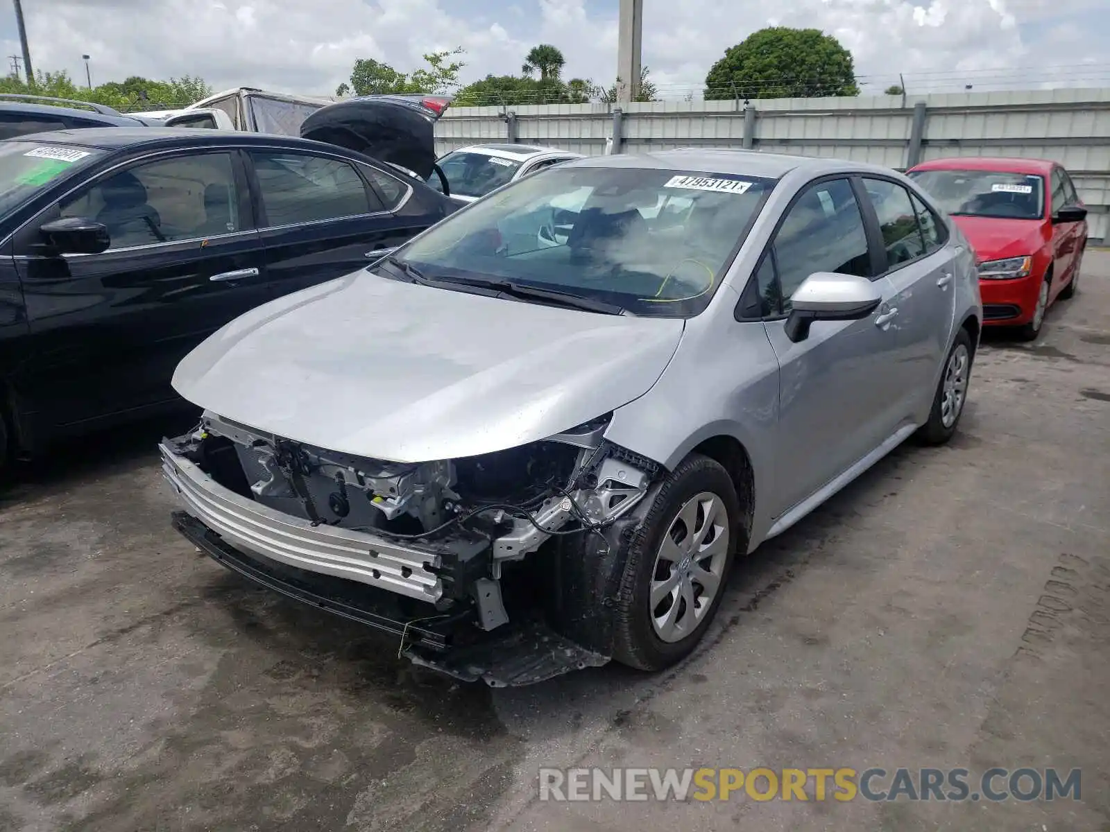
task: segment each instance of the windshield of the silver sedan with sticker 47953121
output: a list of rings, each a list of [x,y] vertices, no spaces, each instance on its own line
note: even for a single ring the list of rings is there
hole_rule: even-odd
[[[776,180],[639,168],[552,168],[453,214],[397,252],[437,280],[512,281],[636,315],[690,317]]]

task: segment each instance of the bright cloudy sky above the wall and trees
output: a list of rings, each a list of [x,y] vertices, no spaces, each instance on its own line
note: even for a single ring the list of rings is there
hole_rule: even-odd
[[[769,24],[816,27],[856,58],[865,91],[1110,87],[1107,0],[645,0],[644,62],[666,98],[705,80],[724,50]],[[612,83],[617,0],[23,0],[37,69],[93,83],[201,75],[215,89],[332,93],[356,58],[406,71],[463,47],[463,80],[516,73],[553,43],[565,77]],[[4,55],[20,52],[0,4]],[[4,59],[7,62],[7,59]]]

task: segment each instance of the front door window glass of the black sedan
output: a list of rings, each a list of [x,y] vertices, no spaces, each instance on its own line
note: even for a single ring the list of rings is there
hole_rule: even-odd
[[[199,153],[129,168],[61,203],[61,216],[103,223],[110,248],[241,231],[230,153]]]

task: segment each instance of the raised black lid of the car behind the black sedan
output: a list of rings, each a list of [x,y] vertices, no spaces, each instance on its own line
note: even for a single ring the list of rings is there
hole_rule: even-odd
[[[435,122],[448,105],[438,97],[365,95],[322,106],[301,138],[337,144],[427,180],[435,165]]]

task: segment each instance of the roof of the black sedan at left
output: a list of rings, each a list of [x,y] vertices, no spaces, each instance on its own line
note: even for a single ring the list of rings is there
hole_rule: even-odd
[[[160,126],[127,126],[127,128],[81,128],[77,130],[54,130],[48,133],[31,133],[9,139],[8,141],[36,142],[38,144],[74,144],[98,150],[123,150],[141,146],[189,146],[193,144],[258,144],[260,146],[275,143],[286,146],[327,148],[342,151],[345,154],[360,156],[362,154],[347,151],[335,144],[313,142],[291,135],[272,135],[270,133],[253,133],[243,130],[196,130],[195,128],[160,128]]]

